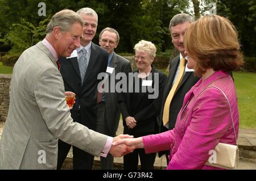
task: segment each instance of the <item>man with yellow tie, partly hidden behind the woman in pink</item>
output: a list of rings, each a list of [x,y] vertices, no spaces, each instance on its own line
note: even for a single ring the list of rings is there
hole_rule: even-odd
[[[163,102],[160,112],[161,132],[173,129],[175,127],[177,114],[183,104],[185,94],[191,89],[197,81],[198,77],[193,74],[193,69],[187,68],[187,57],[183,44],[185,30],[194,21],[191,15],[181,13],[175,15],[171,21],[169,30],[171,33],[172,43],[179,50],[180,54],[170,61],[170,74],[164,88]],[[161,151],[166,154],[168,165],[168,151]]]

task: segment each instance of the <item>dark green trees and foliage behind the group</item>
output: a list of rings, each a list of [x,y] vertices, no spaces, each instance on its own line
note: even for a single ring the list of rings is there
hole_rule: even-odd
[[[211,2],[217,3],[217,14],[228,17],[237,27],[240,35],[242,50],[246,56],[256,56],[256,1],[255,0],[197,0],[200,2],[200,15],[210,10]],[[0,0],[0,39],[13,30],[13,24],[30,22],[36,27],[40,21],[50,18],[51,15],[62,9],[79,10],[82,7],[91,7],[98,14],[98,30],[93,42],[98,43],[98,34],[105,27],[115,28],[121,37],[117,52],[133,52],[133,47],[139,40],[152,41],[158,48],[158,52],[165,52],[173,48],[168,30],[170,19],[180,12],[194,14],[191,0],[44,0],[46,3],[46,16],[39,16],[38,3],[42,0]],[[190,2],[190,4],[189,4]],[[190,8],[188,8],[190,7]],[[25,33],[14,34],[23,39],[14,39],[18,43],[18,49],[34,44],[36,37],[31,25],[22,24],[30,29],[20,31]],[[18,29],[18,28],[17,28]],[[33,32],[32,32],[33,31]],[[10,45],[10,40],[8,41]],[[11,44],[13,47],[14,45]]]

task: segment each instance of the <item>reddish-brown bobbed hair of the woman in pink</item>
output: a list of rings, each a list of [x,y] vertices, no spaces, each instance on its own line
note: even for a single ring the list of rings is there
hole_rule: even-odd
[[[196,61],[197,76],[208,68],[233,71],[243,64],[237,30],[222,16],[207,15],[192,23],[185,31],[184,46]]]

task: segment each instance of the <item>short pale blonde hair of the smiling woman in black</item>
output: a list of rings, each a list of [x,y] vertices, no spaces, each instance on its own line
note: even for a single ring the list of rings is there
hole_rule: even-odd
[[[156,47],[151,41],[141,40],[134,46],[135,51],[147,52],[151,57],[155,58]]]

